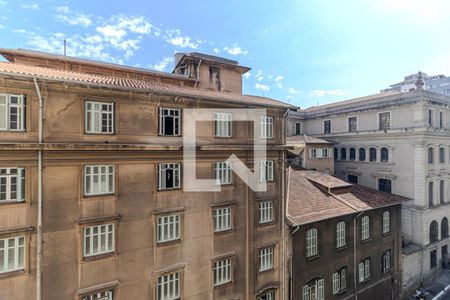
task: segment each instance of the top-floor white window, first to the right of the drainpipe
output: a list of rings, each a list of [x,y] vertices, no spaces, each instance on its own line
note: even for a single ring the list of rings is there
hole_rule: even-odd
[[[87,133],[114,133],[114,103],[85,102]]]

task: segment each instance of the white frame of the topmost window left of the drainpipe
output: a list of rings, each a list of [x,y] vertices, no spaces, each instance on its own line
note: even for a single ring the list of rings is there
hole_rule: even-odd
[[[5,114],[5,124],[0,124],[0,131],[25,131],[25,96],[0,94],[0,101],[1,98],[4,98],[4,103],[0,102],[0,111]],[[13,99],[17,101],[17,103],[12,103]],[[12,128],[13,126],[11,126],[11,110],[13,108],[17,110],[17,128]]]

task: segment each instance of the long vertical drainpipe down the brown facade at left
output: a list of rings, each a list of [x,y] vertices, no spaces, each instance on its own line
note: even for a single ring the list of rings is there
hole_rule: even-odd
[[[42,144],[43,144],[43,99],[36,77],[34,86],[39,98],[39,150],[38,150],[38,214],[36,256],[36,300],[42,297]]]

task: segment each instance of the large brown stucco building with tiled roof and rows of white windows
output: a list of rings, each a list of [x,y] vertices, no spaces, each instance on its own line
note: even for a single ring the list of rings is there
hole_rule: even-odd
[[[284,118],[242,94],[249,68],[177,55],[172,73],[1,49],[0,299],[280,299]],[[232,112],[197,125],[184,192],[186,108],[265,108],[259,131]],[[252,139],[267,142],[254,161]],[[225,162],[261,168],[253,192]],[[194,174],[192,174],[194,176]]]

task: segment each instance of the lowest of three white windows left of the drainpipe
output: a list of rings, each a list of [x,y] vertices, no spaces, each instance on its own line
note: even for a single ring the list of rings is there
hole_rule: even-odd
[[[25,237],[0,239],[0,274],[25,269]]]

